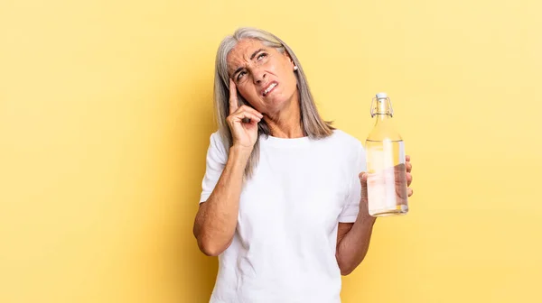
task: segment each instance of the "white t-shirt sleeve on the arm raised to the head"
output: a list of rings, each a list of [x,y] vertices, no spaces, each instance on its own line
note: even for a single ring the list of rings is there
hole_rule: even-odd
[[[201,181],[200,203],[207,201],[212,190],[217,185],[220,175],[228,161],[228,153],[224,143],[221,140],[220,133],[215,132],[210,135],[209,148],[207,150],[207,160],[205,175]]]

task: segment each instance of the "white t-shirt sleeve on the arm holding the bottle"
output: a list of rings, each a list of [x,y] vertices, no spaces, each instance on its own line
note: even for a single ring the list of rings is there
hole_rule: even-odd
[[[352,223],[356,221],[358,213],[360,212],[360,198],[361,198],[361,184],[360,184],[360,172],[365,171],[367,168],[365,161],[365,149],[361,142],[358,142],[354,148],[355,153],[353,157],[350,157],[350,161],[353,164],[350,166],[352,170],[349,170],[349,188],[348,194],[344,206],[342,207],[341,215],[339,215],[339,222]]]

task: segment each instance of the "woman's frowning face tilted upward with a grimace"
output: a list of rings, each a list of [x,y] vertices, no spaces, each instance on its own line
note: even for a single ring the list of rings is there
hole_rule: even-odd
[[[228,54],[228,74],[258,112],[276,115],[297,98],[294,62],[261,41],[242,40]]]

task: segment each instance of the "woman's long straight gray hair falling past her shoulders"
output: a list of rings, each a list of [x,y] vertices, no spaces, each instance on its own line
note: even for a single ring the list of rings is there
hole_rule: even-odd
[[[222,141],[226,145],[226,150],[233,142],[231,131],[229,130],[226,118],[229,116],[229,75],[228,75],[228,62],[227,57],[229,51],[237,45],[238,41],[243,39],[254,39],[261,41],[267,47],[272,47],[281,53],[285,51],[294,61],[297,66],[295,71],[295,78],[297,78],[297,90],[300,100],[300,112],[301,112],[301,127],[304,131],[304,135],[313,139],[321,139],[332,134],[333,127],[331,122],[322,120],[322,117],[318,113],[316,105],[314,104],[313,94],[309,88],[307,78],[304,74],[303,68],[297,57],[295,57],[294,51],[290,49],[288,45],[274,34],[266,31],[262,31],[251,27],[242,27],[224,38],[220,42],[219,50],[217,51],[217,57],[215,61],[215,78],[214,78],[214,107],[217,123],[219,125],[219,133],[222,137]],[[238,94],[239,106],[250,106],[247,100]],[[264,120],[261,120],[257,126],[257,142],[254,145],[254,149],[248,163],[245,168],[245,179],[252,176],[257,162],[259,160],[259,137],[261,134],[270,135],[269,126]]]

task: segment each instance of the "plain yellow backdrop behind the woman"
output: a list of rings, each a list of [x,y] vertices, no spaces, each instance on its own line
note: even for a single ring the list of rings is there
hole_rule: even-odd
[[[215,51],[238,26],[300,58],[364,140],[386,91],[412,156],[353,302],[540,302],[542,5],[516,1],[3,0],[0,302],[207,302],[192,237]]]

